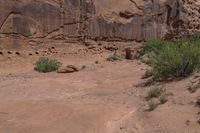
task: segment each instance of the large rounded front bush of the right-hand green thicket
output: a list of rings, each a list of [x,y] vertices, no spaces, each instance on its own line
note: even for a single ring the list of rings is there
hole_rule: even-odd
[[[200,49],[188,43],[163,49],[152,61],[156,78],[185,77],[199,68]]]

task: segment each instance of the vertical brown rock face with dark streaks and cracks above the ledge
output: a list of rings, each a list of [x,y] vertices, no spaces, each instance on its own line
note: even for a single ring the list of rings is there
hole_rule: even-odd
[[[1,0],[0,41],[144,41],[200,31],[197,0]]]

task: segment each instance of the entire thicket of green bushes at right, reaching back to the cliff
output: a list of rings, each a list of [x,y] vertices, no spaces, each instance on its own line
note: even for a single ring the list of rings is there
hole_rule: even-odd
[[[148,56],[155,79],[186,77],[200,68],[200,35],[179,42],[146,42],[140,56]]]

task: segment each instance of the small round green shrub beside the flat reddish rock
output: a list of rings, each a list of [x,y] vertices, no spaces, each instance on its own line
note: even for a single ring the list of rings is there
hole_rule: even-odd
[[[34,70],[46,73],[56,71],[60,66],[61,63],[56,60],[50,60],[48,58],[41,57],[35,63]]]

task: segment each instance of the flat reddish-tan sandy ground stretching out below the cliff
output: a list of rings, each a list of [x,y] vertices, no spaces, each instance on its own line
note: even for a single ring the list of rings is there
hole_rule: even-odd
[[[167,83],[173,95],[148,112],[150,87],[136,87],[146,66],[109,54],[50,56],[86,66],[71,74],[35,72],[39,55],[0,56],[0,133],[200,133],[200,91],[188,92],[189,79]]]

